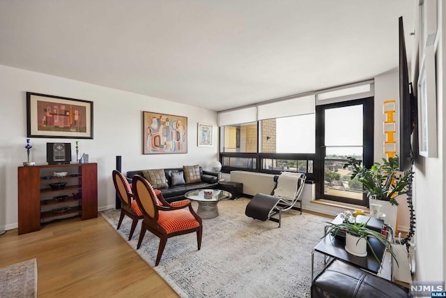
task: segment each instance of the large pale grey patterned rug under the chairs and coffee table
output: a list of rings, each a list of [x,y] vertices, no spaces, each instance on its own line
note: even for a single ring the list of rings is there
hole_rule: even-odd
[[[160,240],[146,232],[137,253],[180,297],[309,297],[312,249],[323,236],[327,218],[290,210],[282,214],[282,227],[277,228],[275,222],[245,216],[248,202],[219,202],[220,216],[203,219],[200,251],[196,233],[172,237],[155,267]],[[192,206],[197,209],[196,202]],[[115,229],[119,214],[112,209],[101,212]],[[130,225],[125,216],[117,231],[124,239]],[[128,241],[134,249],[139,231],[140,224]],[[316,254],[314,263],[319,271],[323,258]]]

